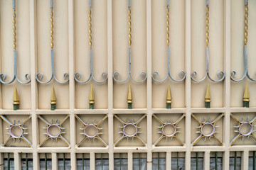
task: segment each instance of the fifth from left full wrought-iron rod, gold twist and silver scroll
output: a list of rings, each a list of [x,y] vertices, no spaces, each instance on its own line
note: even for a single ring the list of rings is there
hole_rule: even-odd
[[[158,82],[158,83],[161,83],[161,82],[164,82],[166,81],[166,79],[168,77],[170,77],[171,80],[173,81],[176,81],[176,82],[180,82],[180,81],[183,81],[184,79],[186,79],[186,72],[184,72],[183,70],[178,72],[178,76],[181,78],[179,80],[176,80],[174,79],[173,77],[171,77],[171,72],[170,72],[170,34],[169,34],[169,0],[166,1],[167,2],[167,6],[166,6],[166,30],[167,30],[167,33],[166,33],[166,42],[167,42],[167,75],[166,77],[163,79],[163,80],[157,80],[158,77],[159,77],[159,72],[153,72],[151,77],[154,81]],[[156,75],[156,77],[154,77],[154,74]]]

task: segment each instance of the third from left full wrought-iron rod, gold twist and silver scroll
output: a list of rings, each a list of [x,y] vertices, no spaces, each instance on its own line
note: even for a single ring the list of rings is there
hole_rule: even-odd
[[[104,83],[105,81],[107,81],[107,72],[103,72],[102,73],[102,81],[97,81],[97,79],[95,79],[95,77],[92,74],[92,0],[89,1],[89,45],[90,45],[90,76],[88,77],[88,79],[86,79],[85,81],[80,81],[81,79],[81,74],[80,72],[76,72],[74,75],[75,81],[78,81],[78,83],[86,83],[87,81],[89,81],[90,79],[92,79],[93,81],[95,81],[96,83]]]

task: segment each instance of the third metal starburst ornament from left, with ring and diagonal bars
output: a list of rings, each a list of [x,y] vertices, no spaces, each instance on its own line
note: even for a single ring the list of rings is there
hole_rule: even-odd
[[[107,147],[107,143],[104,140],[102,140],[102,138],[100,137],[100,135],[103,134],[103,132],[100,132],[102,128],[99,128],[100,124],[102,124],[104,120],[107,118],[107,115],[104,118],[102,118],[102,120],[100,120],[100,122],[98,123],[96,123],[96,120],[94,120],[93,123],[90,123],[89,120],[88,120],[88,123],[84,123],[82,119],[78,117],[78,115],[75,115],[75,118],[77,118],[78,121],[83,125],[83,128],[80,128],[80,130],[82,130],[80,134],[84,135],[84,137],[78,143],[78,147],[86,139],[88,139],[89,141],[90,140],[94,141],[95,139],[100,140],[100,142],[102,142]]]

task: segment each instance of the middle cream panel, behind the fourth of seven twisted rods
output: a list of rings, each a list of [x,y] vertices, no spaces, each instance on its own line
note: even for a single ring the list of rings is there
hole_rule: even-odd
[[[141,81],[146,72],[146,1],[131,1],[132,11],[132,77]],[[113,1],[113,72],[119,72],[119,81],[129,74],[128,56],[128,1]],[[148,79],[151,73],[148,73]],[[144,75],[142,75],[144,76]],[[114,82],[114,108],[127,108],[127,91],[132,86],[133,108],[146,108],[146,83],[136,84],[129,79],[123,84]]]

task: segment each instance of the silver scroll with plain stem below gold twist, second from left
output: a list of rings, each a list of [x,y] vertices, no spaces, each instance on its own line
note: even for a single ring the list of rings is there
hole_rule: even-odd
[[[67,77],[69,77],[68,73],[63,74],[63,78],[65,81],[59,81],[56,77],[55,77],[55,71],[54,71],[54,58],[53,58],[53,49],[51,49],[51,69],[52,69],[52,74],[51,77],[48,81],[41,81],[43,79],[43,73],[38,72],[36,74],[36,80],[41,83],[41,84],[48,84],[50,81],[52,81],[52,79],[55,79],[55,81],[57,81],[59,84],[65,84],[69,81],[69,78],[67,79]]]

